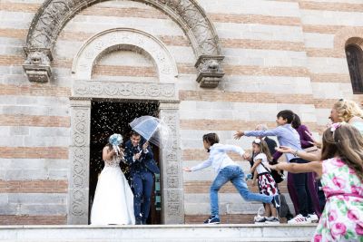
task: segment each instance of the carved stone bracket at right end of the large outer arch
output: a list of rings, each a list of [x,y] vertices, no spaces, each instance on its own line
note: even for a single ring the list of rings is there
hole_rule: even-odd
[[[221,61],[223,56],[201,55],[195,63],[198,69],[197,82],[201,83],[201,87],[214,88],[217,87],[224,73],[221,69]]]

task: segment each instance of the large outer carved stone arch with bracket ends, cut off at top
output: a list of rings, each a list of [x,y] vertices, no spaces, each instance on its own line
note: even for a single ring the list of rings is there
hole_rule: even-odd
[[[24,69],[29,81],[48,82],[50,61],[58,34],[82,9],[105,0],[47,0],[32,21],[26,38]],[[152,5],[182,27],[196,55],[197,82],[201,87],[216,87],[221,81],[223,60],[221,41],[210,19],[195,0],[132,0]]]

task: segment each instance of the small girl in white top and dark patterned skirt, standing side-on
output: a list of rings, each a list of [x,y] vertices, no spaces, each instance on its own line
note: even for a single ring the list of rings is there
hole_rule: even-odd
[[[256,139],[252,142],[252,149],[257,154],[253,159],[253,166],[250,169],[250,173],[254,173],[252,186],[256,185],[256,179],[258,180],[258,186],[260,194],[268,196],[275,196],[279,194],[279,189],[275,180],[270,174],[269,160],[272,160],[269,147],[265,140]],[[280,223],[277,210],[271,204],[263,204],[265,208],[265,214],[272,215],[272,217],[259,217],[255,218],[255,223]]]

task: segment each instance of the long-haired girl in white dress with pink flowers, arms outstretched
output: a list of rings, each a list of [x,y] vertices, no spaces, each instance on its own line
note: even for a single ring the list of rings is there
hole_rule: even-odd
[[[299,150],[279,151],[299,156]],[[363,137],[352,125],[333,123],[322,137],[321,160],[279,163],[271,169],[314,171],[321,177],[327,203],[311,241],[363,241]]]

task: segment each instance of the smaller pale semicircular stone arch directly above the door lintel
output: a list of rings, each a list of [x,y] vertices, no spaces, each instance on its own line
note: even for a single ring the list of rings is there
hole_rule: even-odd
[[[107,50],[115,47],[141,49],[152,58],[156,65],[160,82],[175,82],[178,69],[172,54],[166,46],[152,34],[131,28],[113,28],[95,34],[75,55],[72,67],[74,80],[91,80],[93,63]]]

